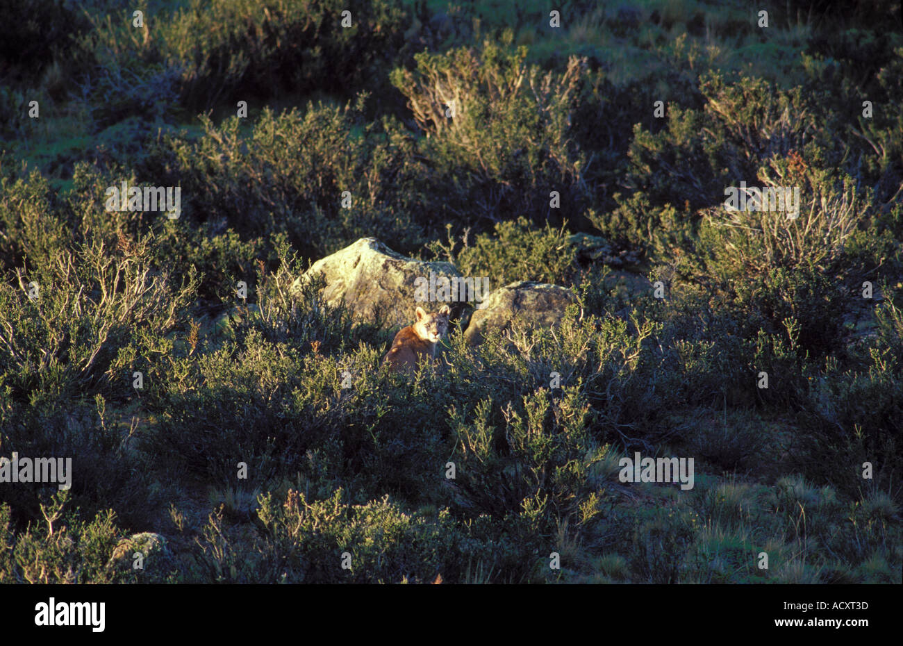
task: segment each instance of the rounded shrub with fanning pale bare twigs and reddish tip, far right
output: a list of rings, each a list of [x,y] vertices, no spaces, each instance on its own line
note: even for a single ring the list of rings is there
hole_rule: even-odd
[[[870,219],[868,196],[844,178],[809,170],[798,155],[770,164],[765,187],[800,186],[798,217],[781,211],[706,212],[698,249],[707,271],[746,311],[759,314],[768,332],[788,322],[791,345],[833,351],[840,342],[843,314],[854,306],[857,279],[880,264],[880,237],[862,235]]]

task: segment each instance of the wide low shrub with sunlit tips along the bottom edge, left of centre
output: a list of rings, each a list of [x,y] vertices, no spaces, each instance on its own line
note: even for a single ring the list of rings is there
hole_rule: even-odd
[[[535,539],[517,524],[499,531],[480,517],[455,520],[448,510],[407,513],[387,496],[343,502],[336,490],[315,501],[303,492],[259,499],[259,538],[230,532],[211,514],[199,541],[196,576],[229,583],[523,582],[535,576]],[[349,560],[346,560],[349,559]],[[343,568],[342,563],[349,564]]]

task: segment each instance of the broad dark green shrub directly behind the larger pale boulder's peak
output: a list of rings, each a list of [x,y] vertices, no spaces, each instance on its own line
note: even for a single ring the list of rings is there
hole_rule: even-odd
[[[359,132],[358,108],[311,106],[303,116],[265,110],[247,136],[238,117],[219,127],[204,117],[197,142],[164,136],[141,174],[182,185],[183,217],[224,220],[242,239],[285,233],[306,257],[369,236],[411,250],[424,225],[434,226],[414,217],[422,164],[397,122]],[[346,191],[349,209],[342,208]]]

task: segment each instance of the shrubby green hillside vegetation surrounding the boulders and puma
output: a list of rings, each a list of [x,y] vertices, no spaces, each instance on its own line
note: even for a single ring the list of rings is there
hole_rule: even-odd
[[[0,583],[903,582],[899,4],[761,5],[0,0]],[[389,374],[370,237],[577,303]]]

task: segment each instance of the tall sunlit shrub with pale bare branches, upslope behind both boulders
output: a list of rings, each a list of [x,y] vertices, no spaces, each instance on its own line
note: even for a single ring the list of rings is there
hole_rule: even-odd
[[[424,51],[414,56],[415,71],[392,72],[426,134],[424,152],[435,160],[433,193],[443,196],[443,220],[498,222],[525,213],[545,220],[552,191],[581,210],[586,160],[569,138],[581,61],[573,57],[563,72],[541,74],[526,66],[525,47],[510,51],[511,38],[508,30],[479,51]]]

